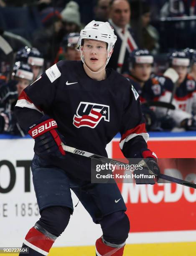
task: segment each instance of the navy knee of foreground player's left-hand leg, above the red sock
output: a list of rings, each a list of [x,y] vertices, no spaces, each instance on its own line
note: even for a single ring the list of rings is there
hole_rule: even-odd
[[[42,210],[38,224],[54,236],[60,236],[69,223],[72,210],[64,206],[51,206]]]

